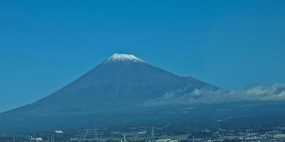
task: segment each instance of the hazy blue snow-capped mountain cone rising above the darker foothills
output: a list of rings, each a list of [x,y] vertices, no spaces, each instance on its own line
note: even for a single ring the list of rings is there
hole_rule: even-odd
[[[167,92],[177,89],[192,92],[201,88],[219,89],[193,77],[174,75],[134,55],[114,54],[48,97],[0,116],[6,120],[24,121],[33,116],[57,119],[69,114],[138,111],[144,102]]]

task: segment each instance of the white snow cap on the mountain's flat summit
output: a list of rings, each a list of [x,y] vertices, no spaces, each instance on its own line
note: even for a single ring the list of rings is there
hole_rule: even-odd
[[[115,53],[106,62],[145,62],[140,58],[135,57],[135,55],[131,54],[118,54]]]

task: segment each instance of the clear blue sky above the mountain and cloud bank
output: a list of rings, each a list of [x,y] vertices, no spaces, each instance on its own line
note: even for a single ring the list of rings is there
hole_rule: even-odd
[[[226,89],[285,82],[285,1],[0,1],[0,111],[113,53]]]

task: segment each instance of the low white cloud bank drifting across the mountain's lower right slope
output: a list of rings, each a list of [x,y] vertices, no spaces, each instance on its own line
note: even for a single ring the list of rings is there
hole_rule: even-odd
[[[151,99],[145,105],[285,100],[285,84],[279,83],[272,86],[260,85],[232,91],[222,89],[213,91],[206,88],[194,89],[190,92],[185,90],[187,88],[167,92],[162,97]]]

